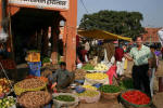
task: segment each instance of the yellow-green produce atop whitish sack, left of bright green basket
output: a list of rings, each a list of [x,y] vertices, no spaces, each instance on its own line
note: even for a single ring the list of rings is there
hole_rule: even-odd
[[[88,96],[88,97],[95,97],[99,95],[98,91],[91,91],[91,90],[86,90],[84,93],[77,93],[77,96]]]

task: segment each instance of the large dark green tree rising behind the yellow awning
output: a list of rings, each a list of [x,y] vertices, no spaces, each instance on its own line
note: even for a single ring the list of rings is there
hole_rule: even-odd
[[[139,12],[104,10],[93,14],[85,14],[80,21],[79,29],[101,29],[135,38],[145,32],[140,23],[142,19],[142,14]]]

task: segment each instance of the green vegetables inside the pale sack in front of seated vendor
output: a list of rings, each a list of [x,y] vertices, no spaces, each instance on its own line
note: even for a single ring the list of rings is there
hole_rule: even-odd
[[[61,102],[74,102],[75,100],[75,98],[70,95],[59,95],[59,96],[54,97],[54,99],[61,100]]]

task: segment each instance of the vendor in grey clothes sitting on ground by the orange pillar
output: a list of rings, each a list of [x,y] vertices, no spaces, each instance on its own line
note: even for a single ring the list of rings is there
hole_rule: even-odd
[[[66,64],[63,62],[60,64],[60,69],[49,77],[49,81],[52,82],[52,89],[66,89],[74,80],[74,73],[66,70]]]

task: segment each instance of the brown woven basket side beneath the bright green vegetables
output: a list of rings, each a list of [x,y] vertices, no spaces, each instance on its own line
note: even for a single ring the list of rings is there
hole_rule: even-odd
[[[104,99],[116,99],[117,96],[121,94],[121,92],[117,92],[117,93],[104,93],[104,92],[102,92],[101,94],[102,94],[102,97]]]

